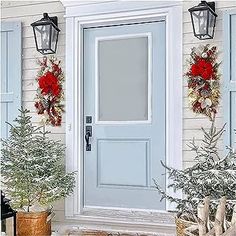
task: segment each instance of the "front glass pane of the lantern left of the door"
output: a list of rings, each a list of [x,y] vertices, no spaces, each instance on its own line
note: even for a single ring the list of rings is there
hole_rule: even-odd
[[[50,49],[50,25],[35,26],[35,37],[38,50],[47,52]]]

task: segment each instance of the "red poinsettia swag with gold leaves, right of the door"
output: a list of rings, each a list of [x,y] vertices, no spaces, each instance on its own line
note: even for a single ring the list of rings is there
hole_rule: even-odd
[[[188,77],[188,98],[195,113],[215,117],[220,99],[220,74],[217,48],[209,44],[192,48]]]

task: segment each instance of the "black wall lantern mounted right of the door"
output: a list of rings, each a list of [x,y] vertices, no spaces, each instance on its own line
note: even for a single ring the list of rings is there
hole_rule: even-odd
[[[198,6],[188,10],[192,19],[194,36],[200,40],[213,39],[217,17],[215,2],[201,1]]]

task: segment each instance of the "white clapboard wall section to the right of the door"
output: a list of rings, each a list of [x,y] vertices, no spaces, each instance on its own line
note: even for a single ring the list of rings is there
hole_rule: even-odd
[[[190,14],[188,9],[192,6],[195,6],[199,1],[184,1],[183,4],[183,72],[186,72],[186,59],[189,57],[190,49],[194,46],[200,44],[216,45],[219,49],[219,61],[222,61],[223,58],[223,12],[227,9],[236,9],[236,1],[216,1],[216,13],[218,14],[216,22],[216,31],[215,37],[213,40],[203,40],[200,41],[193,36],[192,24],[190,19]],[[220,70],[223,73],[223,66],[221,65]],[[223,76],[221,80],[223,84]],[[210,127],[211,123],[208,118],[205,118],[201,115],[195,115],[188,106],[187,98],[187,79],[183,78],[183,166],[187,167],[193,163],[193,154],[189,151],[187,143],[191,141],[193,137],[196,138],[196,141],[202,138],[202,132],[200,131],[201,127]],[[224,124],[223,120],[223,101],[220,101],[219,113],[216,117],[217,127],[222,127]],[[219,142],[219,150],[223,155],[223,138]]]

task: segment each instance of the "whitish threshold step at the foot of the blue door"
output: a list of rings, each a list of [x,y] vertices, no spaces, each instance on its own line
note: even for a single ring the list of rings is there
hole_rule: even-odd
[[[106,232],[174,236],[176,230],[174,215],[164,211],[84,208],[82,214],[68,219],[74,220],[72,227]]]

